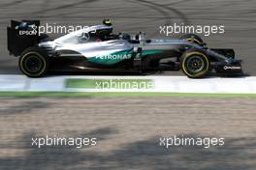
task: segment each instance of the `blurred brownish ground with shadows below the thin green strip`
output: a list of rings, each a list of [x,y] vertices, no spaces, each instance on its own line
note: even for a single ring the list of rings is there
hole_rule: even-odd
[[[0,98],[0,169],[255,170],[255,109],[249,98]],[[46,135],[96,137],[97,145],[31,146]],[[159,146],[174,135],[225,144]]]

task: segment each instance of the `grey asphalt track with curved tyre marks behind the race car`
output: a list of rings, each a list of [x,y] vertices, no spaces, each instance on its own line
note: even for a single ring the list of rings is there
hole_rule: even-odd
[[[94,25],[110,17],[116,32],[144,31],[164,38],[160,25],[176,23],[225,25],[225,34],[203,37],[210,47],[234,47],[243,70],[256,74],[256,2],[254,0],[1,0],[0,73],[20,73],[7,51],[6,27],[11,19],[41,19],[43,23]],[[163,74],[182,74],[167,71]]]

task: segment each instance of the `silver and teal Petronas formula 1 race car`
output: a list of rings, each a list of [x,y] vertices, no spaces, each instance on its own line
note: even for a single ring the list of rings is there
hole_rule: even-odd
[[[19,56],[19,69],[29,77],[49,70],[88,68],[101,71],[182,70],[191,78],[215,71],[241,73],[233,49],[213,49],[200,37],[186,34],[180,39],[145,39],[144,33],[112,33],[112,23],[87,27],[55,40],[38,34],[39,20],[12,20],[8,27],[8,49]]]

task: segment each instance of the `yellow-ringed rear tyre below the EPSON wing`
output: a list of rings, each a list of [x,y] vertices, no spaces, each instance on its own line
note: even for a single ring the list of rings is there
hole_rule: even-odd
[[[19,70],[29,77],[41,77],[48,72],[48,55],[39,47],[25,49],[19,57]]]

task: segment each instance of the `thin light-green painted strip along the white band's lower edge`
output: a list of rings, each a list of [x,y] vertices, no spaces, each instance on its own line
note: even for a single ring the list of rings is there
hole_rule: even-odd
[[[256,98],[256,94],[200,94],[200,93],[137,93],[137,92],[0,92],[0,97],[196,97],[196,98]]]

